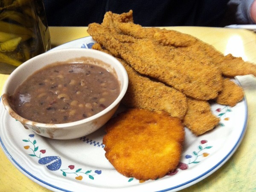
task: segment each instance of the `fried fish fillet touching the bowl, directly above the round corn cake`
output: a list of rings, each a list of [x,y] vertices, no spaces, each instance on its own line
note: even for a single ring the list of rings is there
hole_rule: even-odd
[[[109,53],[99,43],[94,44],[92,48]],[[186,96],[183,93],[139,75],[124,60],[119,59],[119,61],[125,67],[129,77],[128,89],[122,104],[131,108],[164,110],[172,117],[183,119],[187,110]]]

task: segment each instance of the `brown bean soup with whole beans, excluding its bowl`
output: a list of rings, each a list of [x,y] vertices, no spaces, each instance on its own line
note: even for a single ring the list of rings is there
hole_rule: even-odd
[[[39,123],[68,123],[101,112],[119,93],[119,81],[105,68],[62,63],[35,72],[10,99],[23,118]]]

